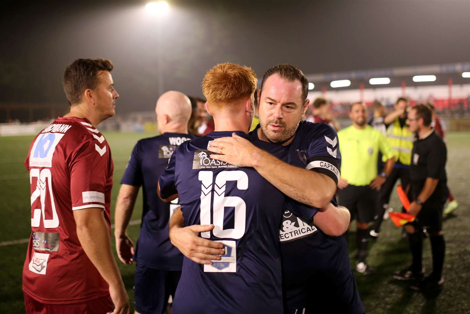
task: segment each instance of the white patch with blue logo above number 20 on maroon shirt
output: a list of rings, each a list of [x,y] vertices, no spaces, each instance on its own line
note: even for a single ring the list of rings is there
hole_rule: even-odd
[[[41,133],[34,141],[30,154],[30,167],[52,167],[55,147],[63,133]]]

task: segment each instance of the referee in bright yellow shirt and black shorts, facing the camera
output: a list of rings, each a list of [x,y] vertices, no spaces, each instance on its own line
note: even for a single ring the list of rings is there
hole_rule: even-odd
[[[375,269],[366,263],[369,222],[374,220],[380,188],[392,172],[395,157],[384,134],[366,123],[367,108],[363,103],[351,105],[349,118],[352,126],[338,132],[342,159],[338,198],[339,205],[351,212],[351,220],[356,219],[356,271],[370,275],[375,273]],[[379,151],[387,158],[387,162],[383,172],[377,175]]]

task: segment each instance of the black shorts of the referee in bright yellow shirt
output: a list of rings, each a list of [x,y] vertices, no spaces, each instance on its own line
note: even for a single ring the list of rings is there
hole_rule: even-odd
[[[338,204],[351,212],[351,220],[370,222],[374,220],[380,192],[368,185],[348,185],[338,190]]]

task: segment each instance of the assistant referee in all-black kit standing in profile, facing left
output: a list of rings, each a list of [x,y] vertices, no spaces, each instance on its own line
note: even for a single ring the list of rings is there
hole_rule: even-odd
[[[448,196],[446,184],[447,149],[431,127],[431,110],[425,105],[415,106],[408,114],[407,124],[415,133],[410,165],[410,190],[413,201],[409,213],[416,220],[405,225],[413,263],[411,267],[393,275],[396,279],[413,280],[412,289],[441,289],[444,283],[442,267],[446,243],[442,233],[442,212]],[[423,230],[431,240],[432,273],[423,279]]]

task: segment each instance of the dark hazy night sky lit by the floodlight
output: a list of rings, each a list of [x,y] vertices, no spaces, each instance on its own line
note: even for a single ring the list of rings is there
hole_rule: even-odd
[[[64,67],[102,57],[115,66],[117,113],[152,110],[157,47],[164,90],[196,96],[205,71],[227,61],[261,79],[277,63],[313,74],[470,60],[467,0],[167,1],[164,17],[145,1],[38,2],[2,7],[0,103],[66,105]]]

